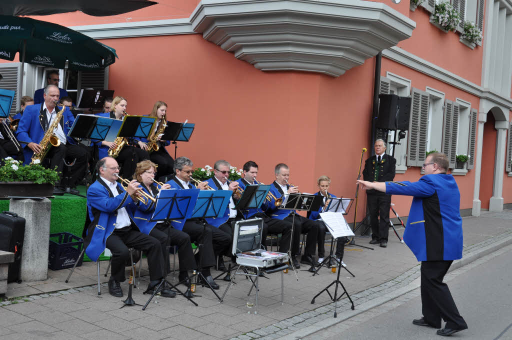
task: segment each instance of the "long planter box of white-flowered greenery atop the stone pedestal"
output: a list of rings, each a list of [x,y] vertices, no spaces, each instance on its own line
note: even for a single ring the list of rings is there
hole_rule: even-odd
[[[23,165],[12,157],[4,159],[0,167],[0,198],[9,196],[48,197],[59,180],[55,170],[47,169],[36,160],[34,164]]]

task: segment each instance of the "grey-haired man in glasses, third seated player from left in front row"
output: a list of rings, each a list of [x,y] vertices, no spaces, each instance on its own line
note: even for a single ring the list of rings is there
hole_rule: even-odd
[[[176,158],[174,161],[175,177],[168,181],[167,184],[170,184],[172,189],[195,189],[196,186],[190,183],[192,173],[194,172],[193,166],[194,163],[187,157]],[[201,190],[206,190],[207,187],[207,182],[201,182],[197,185],[197,188]],[[186,232],[192,242],[203,245],[199,252],[200,261],[196,260],[198,264],[201,263],[201,271],[206,278],[206,282],[202,282],[202,284],[209,284],[212,288],[219,289],[219,285],[211,277],[210,267],[216,265],[216,254],[225,251],[230,244],[231,238],[224,231],[211,224],[206,223],[203,225],[199,219],[175,219],[171,222],[171,225],[178,230]],[[179,277],[179,280],[186,280],[186,277]],[[185,283],[188,284],[186,281]]]

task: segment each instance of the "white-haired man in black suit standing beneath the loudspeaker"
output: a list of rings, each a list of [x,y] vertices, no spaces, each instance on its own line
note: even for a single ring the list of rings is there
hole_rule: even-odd
[[[377,139],[374,144],[375,155],[365,161],[362,177],[365,181],[386,182],[395,178],[396,159],[386,155],[386,144]],[[380,244],[382,248],[388,246],[389,209],[391,208],[391,195],[377,190],[367,190],[366,205],[370,214],[372,227],[372,240],[370,244]],[[379,219],[380,217],[380,219]]]

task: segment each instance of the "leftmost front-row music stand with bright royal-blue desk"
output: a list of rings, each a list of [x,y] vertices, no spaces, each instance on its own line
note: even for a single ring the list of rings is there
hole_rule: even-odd
[[[150,222],[158,222],[158,221],[164,221],[168,225],[170,225],[171,220],[173,219],[187,219],[190,218],[193,211],[193,206],[197,201],[197,197],[199,195],[200,190],[199,189],[186,189],[186,190],[160,190],[160,195],[157,197],[157,202],[155,206],[155,211],[153,213],[153,216],[150,219]],[[142,310],[145,310],[147,305],[151,302],[155,294],[157,294],[159,291],[164,289],[165,283],[167,283],[171,288],[175,289],[179,294],[185,296],[185,298],[193,303],[195,306],[198,306],[198,304],[190,299],[190,297],[183,293],[181,290],[179,290],[176,286],[172,283],[167,281],[167,268],[168,268],[168,261],[169,261],[169,232],[170,232],[170,226],[167,229],[167,244],[165,246],[166,254],[165,257],[165,275],[162,278],[161,282],[153,289],[153,294],[151,295],[150,299],[147,300],[146,304],[142,308]],[[143,294],[145,294],[144,292]]]

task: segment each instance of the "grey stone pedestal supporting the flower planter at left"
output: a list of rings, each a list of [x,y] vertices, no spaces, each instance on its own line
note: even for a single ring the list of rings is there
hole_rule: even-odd
[[[9,210],[26,221],[21,265],[23,281],[44,281],[48,278],[51,206],[47,198],[10,201]]]

